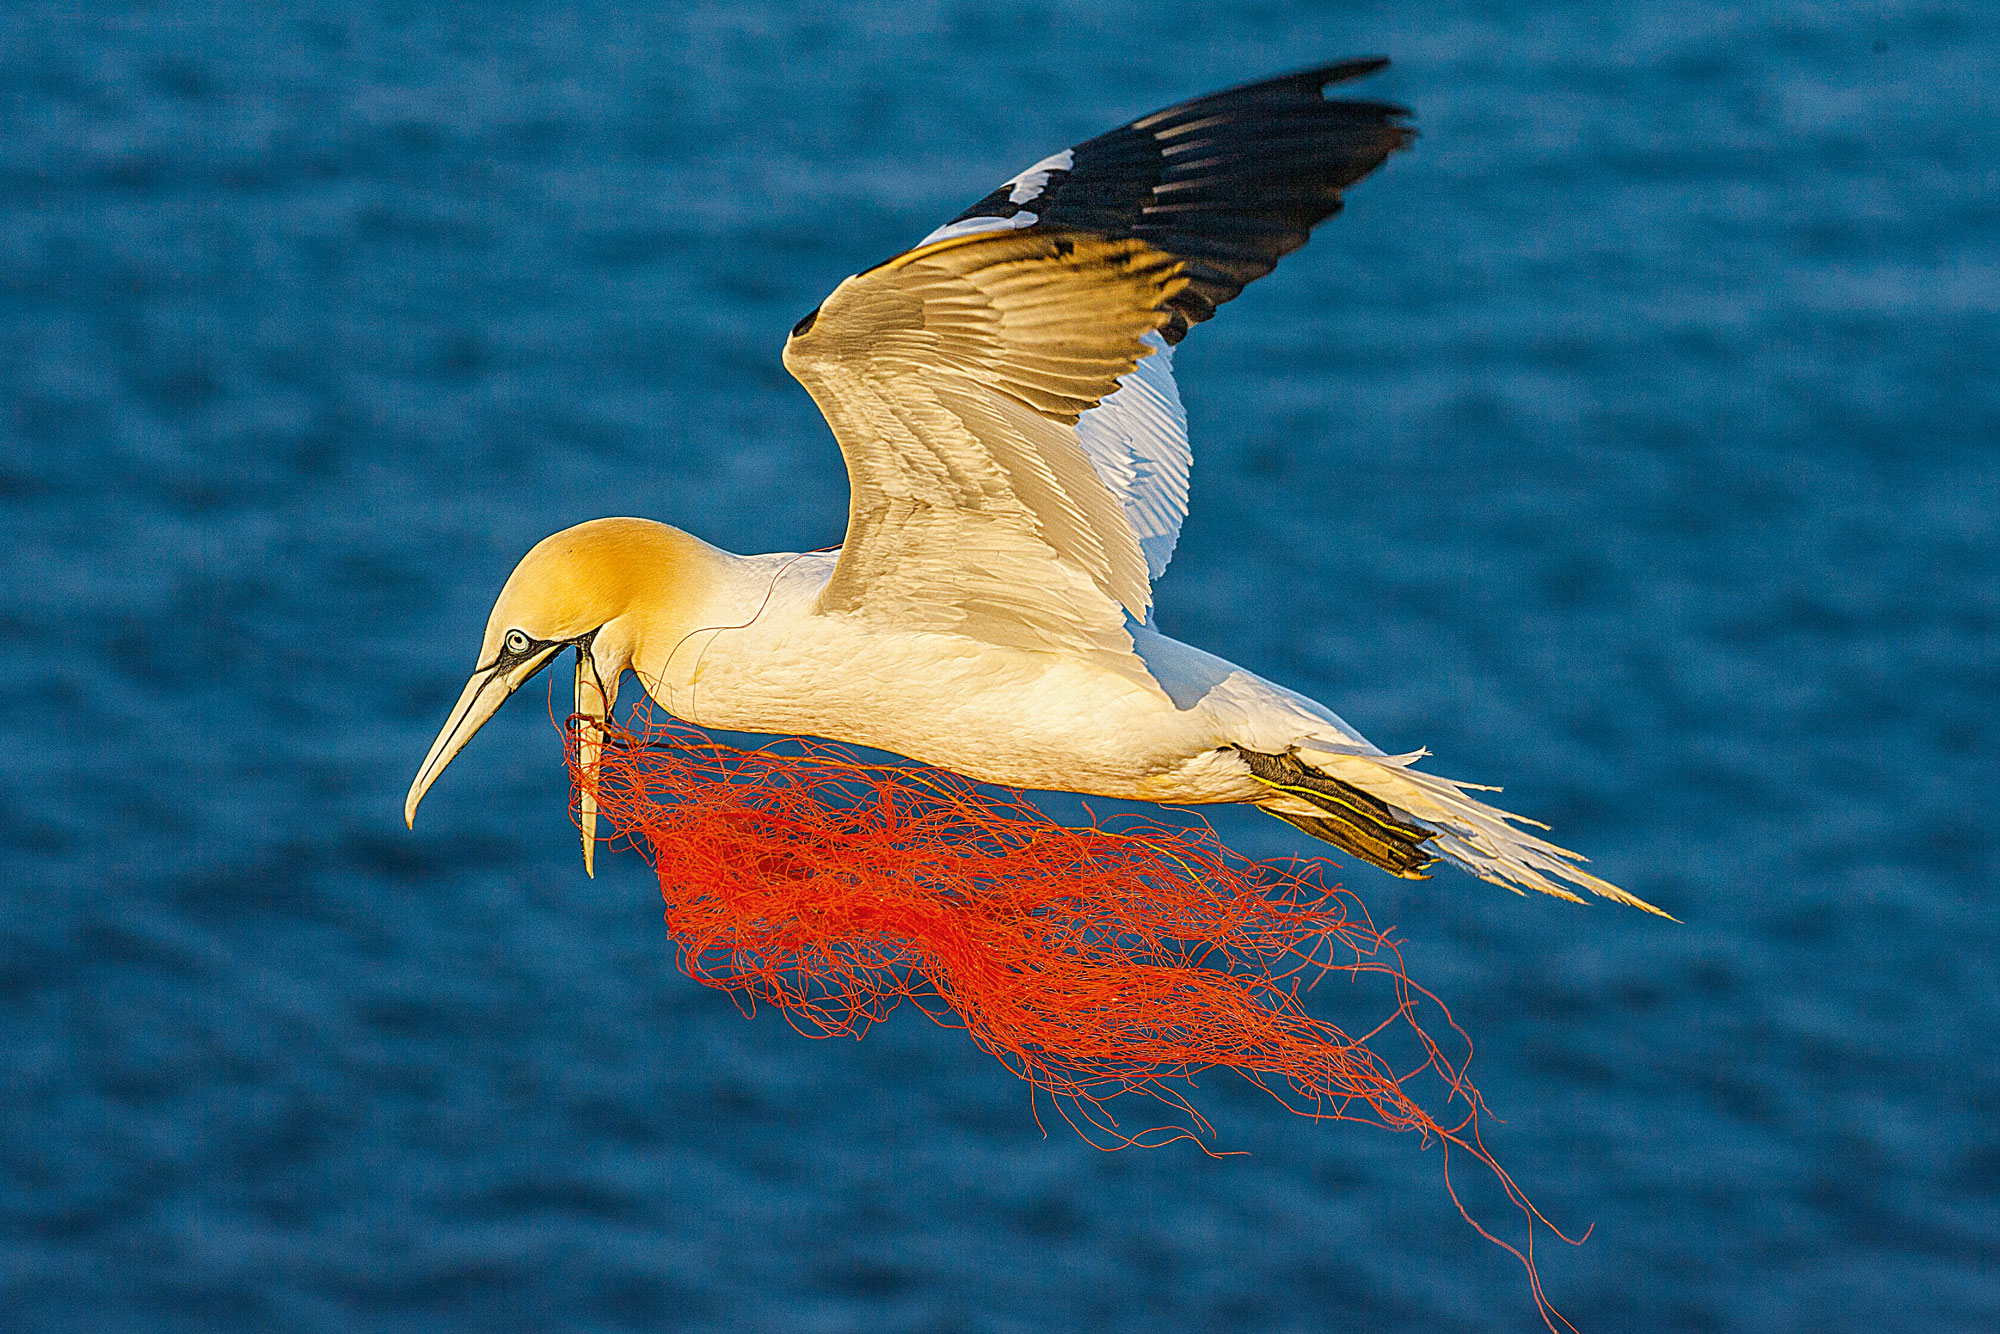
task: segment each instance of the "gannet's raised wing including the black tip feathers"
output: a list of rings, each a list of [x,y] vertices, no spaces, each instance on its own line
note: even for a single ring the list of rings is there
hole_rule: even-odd
[[[1188,506],[1172,348],[1410,142],[1350,60],[1182,102],[842,282],[784,362],[846,456],[822,608],[1126,664]]]

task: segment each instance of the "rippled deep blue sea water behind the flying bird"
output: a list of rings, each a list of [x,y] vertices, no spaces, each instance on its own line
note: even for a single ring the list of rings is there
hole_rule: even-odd
[[[1160,622],[1684,918],[1342,872],[1580,1328],[2000,1328],[2000,12],[1924,0],[0,8],[0,1324],[1538,1328],[1412,1138],[742,1018],[540,698],[400,820],[536,538],[838,540],[838,278],[1364,52],[1424,138],[1184,346]]]

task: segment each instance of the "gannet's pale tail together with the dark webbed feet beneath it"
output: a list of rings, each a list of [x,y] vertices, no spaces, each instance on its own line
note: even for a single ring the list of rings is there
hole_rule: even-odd
[[[1258,802],[1262,810],[1394,876],[1422,880],[1428,868],[1444,858],[1516,894],[1540,890],[1582,902],[1556,884],[1562,880],[1602,898],[1668,916],[1616,884],[1592,876],[1578,866],[1584,858],[1576,852],[1516,828],[1532,824],[1546,830],[1546,824],[1470,796],[1498,788],[1412,768],[1424,756],[1422,750],[1384,756],[1308,742],[1282,756],[1256,750],[1240,754],[1258,782],[1272,790],[1270,798]]]

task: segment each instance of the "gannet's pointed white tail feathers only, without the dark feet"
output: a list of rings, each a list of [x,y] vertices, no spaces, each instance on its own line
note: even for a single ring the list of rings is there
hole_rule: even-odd
[[[1368,796],[1388,802],[1396,810],[1436,828],[1438,836],[1428,846],[1444,860],[1472,872],[1480,880],[1502,884],[1516,894],[1526,888],[1582,902],[1576,894],[1556,884],[1556,880],[1566,880],[1602,898],[1644,908],[1662,918],[1670,916],[1644,898],[1626,894],[1610,880],[1592,876],[1578,866],[1578,862],[1586,860],[1582,854],[1558,848],[1546,838],[1514,828],[1516,824],[1532,824],[1546,830],[1546,824],[1468,796],[1468,792],[1498,792],[1498,788],[1458,782],[1456,778],[1438,778],[1436,774],[1412,768],[1424,754],[1428,752],[1414,750],[1402,756],[1362,754],[1360,750],[1336,746],[1320,748],[1314,742],[1298,748],[1302,764],[1310,764],[1328,778],[1352,784]]]

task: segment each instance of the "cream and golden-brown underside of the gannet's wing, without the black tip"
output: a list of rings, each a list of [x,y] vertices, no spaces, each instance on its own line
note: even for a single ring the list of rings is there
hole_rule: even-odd
[[[1146,552],[1078,422],[1156,354],[1184,286],[1144,242],[1054,230],[960,234],[842,282],[784,352],[848,464],[820,608],[1150,684],[1126,630]]]

